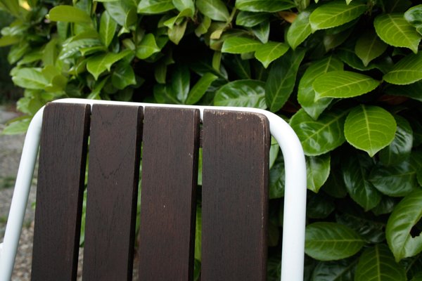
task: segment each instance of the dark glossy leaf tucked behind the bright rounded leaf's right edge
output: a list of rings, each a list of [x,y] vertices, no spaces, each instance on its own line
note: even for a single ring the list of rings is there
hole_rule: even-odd
[[[379,152],[380,160],[385,166],[396,165],[407,159],[413,145],[413,130],[407,119],[397,115],[395,120],[397,123],[395,138],[387,148]]]

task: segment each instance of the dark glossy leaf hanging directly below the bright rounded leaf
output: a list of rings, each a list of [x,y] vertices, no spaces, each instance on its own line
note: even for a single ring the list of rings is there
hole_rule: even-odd
[[[347,192],[365,211],[376,207],[381,201],[381,192],[369,181],[369,171],[373,165],[373,160],[368,155],[360,153],[350,155],[342,162],[343,181]]]

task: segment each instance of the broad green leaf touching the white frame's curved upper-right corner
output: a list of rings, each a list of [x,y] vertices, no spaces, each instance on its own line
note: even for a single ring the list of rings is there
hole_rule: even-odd
[[[315,121],[305,110],[296,112],[290,119],[290,126],[298,135],[305,155],[322,155],[342,145],[345,142],[343,124],[346,115],[345,110],[324,112]]]

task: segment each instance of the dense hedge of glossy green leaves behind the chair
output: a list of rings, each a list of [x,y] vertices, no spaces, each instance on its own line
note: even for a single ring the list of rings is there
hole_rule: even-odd
[[[41,105],[63,96],[271,110],[307,155],[305,279],[422,280],[418,1],[21,4],[0,0],[16,19],[0,46],[12,45],[11,75],[25,89],[18,108],[29,116],[6,133],[24,131]],[[272,148],[276,280],[283,159]]]

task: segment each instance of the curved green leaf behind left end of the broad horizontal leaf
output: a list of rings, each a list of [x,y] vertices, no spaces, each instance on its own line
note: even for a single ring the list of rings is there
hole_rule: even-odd
[[[309,65],[300,79],[298,102],[313,119],[318,119],[319,115],[324,112],[332,99],[320,98],[315,101],[315,91],[312,84],[322,74],[336,70],[343,70],[343,63],[333,56],[328,56]]]

